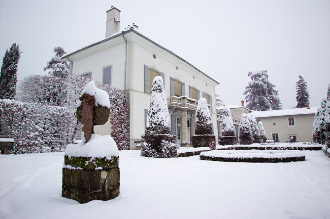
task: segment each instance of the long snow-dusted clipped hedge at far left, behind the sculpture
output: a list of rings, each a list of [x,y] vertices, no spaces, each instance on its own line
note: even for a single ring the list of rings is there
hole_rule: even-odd
[[[0,100],[0,138],[15,139],[11,153],[60,152],[74,136],[68,108]]]

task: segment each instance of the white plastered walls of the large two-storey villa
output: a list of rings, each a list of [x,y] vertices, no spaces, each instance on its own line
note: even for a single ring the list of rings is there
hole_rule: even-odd
[[[190,136],[187,132],[190,130],[187,130],[187,119],[192,118],[189,123],[194,123],[194,109],[196,108],[194,104],[196,105],[196,101],[193,103],[193,99],[187,98],[189,86],[199,90],[201,98],[203,94],[211,97],[209,100],[211,100],[210,108],[212,108],[214,134],[217,133],[215,86],[218,85],[218,82],[171,51],[159,46],[133,27],[71,53],[63,59],[70,62],[71,73],[84,75],[91,72],[91,78],[95,81],[103,81],[103,70],[111,67],[111,85],[129,91],[130,149],[136,149],[134,142],[141,141],[141,135],[144,134],[145,130],[145,111],[150,104],[150,94],[145,92],[145,66],[163,75],[166,97],[169,101],[171,88],[173,89],[170,85],[170,77],[181,82],[182,87],[184,83],[184,89],[180,96],[186,97],[176,98],[175,101],[177,102],[173,102],[173,107],[169,103],[172,117],[175,115],[181,119],[181,127],[179,128],[181,138],[178,143],[189,142]],[[192,104],[183,104],[187,100]],[[109,135],[111,133],[110,122],[103,126],[95,126],[94,132],[100,135]],[[194,130],[191,134],[194,134]],[[182,139],[182,137],[185,138]],[[216,142],[218,141],[216,140]]]

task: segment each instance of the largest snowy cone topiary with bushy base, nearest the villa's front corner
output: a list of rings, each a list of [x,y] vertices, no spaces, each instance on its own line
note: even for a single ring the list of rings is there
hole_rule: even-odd
[[[141,156],[167,158],[177,156],[176,136],[171,135],[170,114],[162,77],[152,82],[145,135],[142,135]]]

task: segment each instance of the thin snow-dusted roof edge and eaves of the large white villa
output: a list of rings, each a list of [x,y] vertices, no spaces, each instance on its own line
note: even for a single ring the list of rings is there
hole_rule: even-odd
[[[94,43],[92,43],[92,44],[90,44],[90,45],[88,45],[88,46],[86,46],[86,47],[83,47],[83,48],[81,48],[81,49],[79,49],[79,50],[76,50],[75,52],[72,52],[72,53],[70,53],[70,54],[68,54],[68,55],[66,55],[66,56],[63,56],[62,59],[67,59],[68,61],[70,61],[69,57],[70,57],[71,55],[73,55],[73,54],[75,54],[75,53],[78,53],[78,52],[81,52],[81,51],[83,51],[83,50],[86,50],[86,49],[88,49],[88,48],[91,48],[91,47],[93,47],[93,46],[96,46],[96,45],[98,45],[98,44],[100,44],[100,43],[103,43],[103,42],[105,42],[105,41],[108,41],[108,40],[111,40],[111,39],[113,39],[113,38],[116,38],[116,37],[118,37],[118,36],[120,36],[120,35],[123,35],[123,34],[125,34],[125,33],[128,33],[128,32],[134,32],[134,33],[138,34],[139,36],[141,36],[141,37],[147,39],[148,41],[150,41],[151,43],[153,43],[153,44],[156,45],[157,47],[159,47],[159,48],[161,48],[161,49],[163,49],[163,50],[169,52],[170,54],[174,55],[174,56],[177,57],[178,59],[180,59],[180,60],[182,60],[183,62],[185,62],[186,64],[190,65],[190,66],[191,66],[192,68],[194,68],[195,70],[201,72],[202,74],[204,74],[205,76],[207,76],[208,78],[210,78],[211,80],[213,80],[214,82],[216,82],[217,84],[219,84],[218,81],[216,81],[215,79],[213,79],[212,77],[210,77],[210,76],[207,75],[206,73],[202,72],[200,69],[196,68],[195,66],[193,66],[192,64],[190,64],[190,63],[187,62],[186,60],[182,59],[180,56],[178,56],[177,54],[173,53],[171,50],[169,50],[169,49],[167,49],[167,48],[165,48],[165,47],[159,45],[159,43],[153,41],[153,40],[150,39],[148,36],[142,34],[140,31],[138,31],[137,29],[134,29],[133,27],[125,28],[123,31],[121,31],[121,32],[117,32],[117,33],[114,33],[114,34],[112,34],[111,36],[109,36],[108,38],[105,38],[105,39],[103,39],[103,40],[101,40],[101,41],[98,41],[98,42],[94,42]]]

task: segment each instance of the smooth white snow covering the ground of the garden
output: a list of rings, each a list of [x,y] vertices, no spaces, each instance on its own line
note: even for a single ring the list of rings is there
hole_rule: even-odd
[[[330,159],[235,163],[120,151],[120,195],[61,197],[64,153],[0,155],[0,218],[330,218]]]

